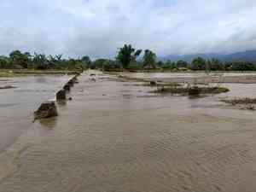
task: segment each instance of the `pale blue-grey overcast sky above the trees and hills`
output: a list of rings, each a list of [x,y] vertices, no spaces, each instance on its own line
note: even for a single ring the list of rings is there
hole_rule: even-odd
[[[13,49],[112,57],[256,49],[255,0],[0,0],[0,55]]]

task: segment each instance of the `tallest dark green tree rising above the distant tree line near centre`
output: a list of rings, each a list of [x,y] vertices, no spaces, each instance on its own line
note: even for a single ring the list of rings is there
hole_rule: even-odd
[[[132,48],[131,44],[125,44],[124,47],[119,49],[116,59],[122,64],[124,68],[128,68],[129,64],[136,61],[137,57],[142,53],[141,49]]]

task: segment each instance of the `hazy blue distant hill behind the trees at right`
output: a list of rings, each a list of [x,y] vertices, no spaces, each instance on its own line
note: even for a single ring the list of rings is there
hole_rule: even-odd
[[[247,50],[243,52],[237,52],[233,54],[228,55],[222,55],[222,54],[195,54],[195,55],[167,55],[164,57],[160,57],[160,60],[166,61],[188,61],[191,62],[196,57],[202,57],[204,59],[212,59],[216,58],[221,61],[256,61],[256,50]]]

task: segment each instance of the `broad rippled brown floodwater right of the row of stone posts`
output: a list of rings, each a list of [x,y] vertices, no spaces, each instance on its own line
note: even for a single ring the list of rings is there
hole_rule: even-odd
[[[89,73],[1,154],[1,192],[256,191],[256,113],[219,102],[255,84],[189,99]]]

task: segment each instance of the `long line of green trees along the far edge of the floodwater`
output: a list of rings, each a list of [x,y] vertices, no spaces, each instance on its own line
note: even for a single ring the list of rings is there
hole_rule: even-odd
[[[197,57],[187,61],[158,61],[157,55],[150,49],[134,49],[125,44],[118,49],[114,60],[90,60],[90,56],[65,59],[62,55],[44,55],[20,50],[12,51],[9,56],[0,55],[0,68],[6,69],[86,69],[96,68],[106,71],[116,70],[193,70],[193,71],[256,71],[256,64],[249,61],[220,61],[212,58],[205,60]]]

